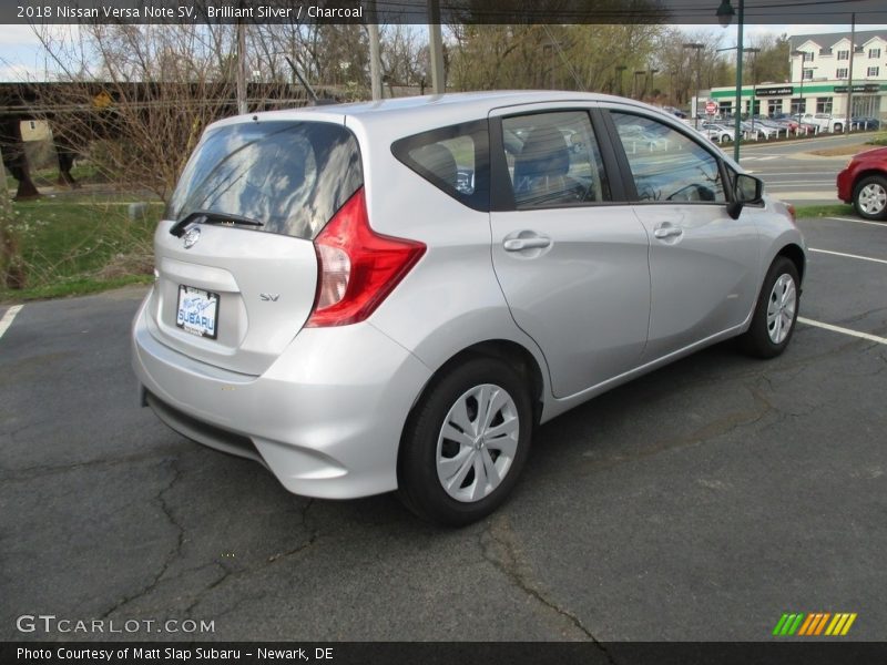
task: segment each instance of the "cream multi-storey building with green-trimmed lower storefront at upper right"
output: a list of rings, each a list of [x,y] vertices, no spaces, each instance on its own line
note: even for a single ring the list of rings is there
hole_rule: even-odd
[[[791,37],[791,80],[743,86],[742,113],[752,112],[754,106],[754,113],[762,115],[830,113],[845,116],[849,96],[853,117],[887,119],[887,31],[857,31],[853,43],[850,49],[849,32]],[[754,57],[748,54],[745,64],[751,78],[754,78]],[[714,88],[710,98],[721,113],[732,113],[736,88]]]

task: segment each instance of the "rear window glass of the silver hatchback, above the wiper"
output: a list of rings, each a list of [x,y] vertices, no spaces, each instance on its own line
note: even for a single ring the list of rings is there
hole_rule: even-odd
[[[313,239],[363,185],[357,140],[320,122],[248,122],[207,132],[185,166],[167,217],[197,211]]]

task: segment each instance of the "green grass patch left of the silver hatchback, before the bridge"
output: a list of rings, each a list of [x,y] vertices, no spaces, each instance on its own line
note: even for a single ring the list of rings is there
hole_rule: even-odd
[[[154,228],[163,206],[130,221],[115,201],[72,197],[12,204],[9,224],[21,256],[24,288],[0,284],[0,301],[95,293],[146,282],[153,272]]]

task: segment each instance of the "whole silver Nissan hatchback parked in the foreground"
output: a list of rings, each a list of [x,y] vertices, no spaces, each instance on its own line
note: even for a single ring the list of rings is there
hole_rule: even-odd
[[[672,115],[495,92],[243,115],[204,133],[132,329],[143,403],[297,494],[495,510],[533,428],[741,337],[781,354],[789,206]]]

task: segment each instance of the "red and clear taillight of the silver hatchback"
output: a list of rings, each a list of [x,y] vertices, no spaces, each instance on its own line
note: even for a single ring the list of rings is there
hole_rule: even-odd
[[[426,246],[374,232],[361,187],[315,238],[314,249],[317,294],[305,325],[319,328],[366,319],[421,258]]]

